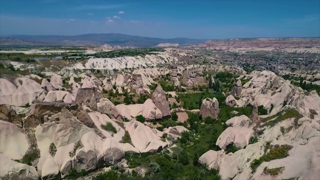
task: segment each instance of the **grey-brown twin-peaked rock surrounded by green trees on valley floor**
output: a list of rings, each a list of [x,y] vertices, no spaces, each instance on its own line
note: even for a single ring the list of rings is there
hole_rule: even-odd
[[[207,97],[202,100],[200,114],[203,118],[206,116],[210,116],[213,119],[217,119],[219,111],[219,102],[215,97],[213,97],[212,99]]]

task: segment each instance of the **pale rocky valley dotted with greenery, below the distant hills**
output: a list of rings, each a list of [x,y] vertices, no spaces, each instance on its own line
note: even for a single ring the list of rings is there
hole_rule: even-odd
[[[0,178],[319,179],[319,53],[318,38],[2,46]]]

